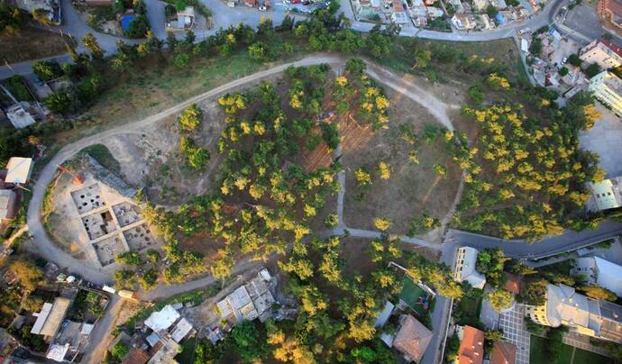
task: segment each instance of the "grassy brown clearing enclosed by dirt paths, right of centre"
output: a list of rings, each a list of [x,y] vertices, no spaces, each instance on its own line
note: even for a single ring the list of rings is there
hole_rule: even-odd
[[[439,219],[447,214],[458,190],[461,171],[450,161],[440,142],[432,147],[423,141],[419,143],[416,148],[419,164],[408,159],[413,147],[399,137],[399,125],[407,123],[419,134],[425,123],[434,123],[434,117],[407,97],[386,91],[391,102],[389,130],[373,132],[367,141],[343,149],[344,219],[347,226],[370,230],[374,218],[385,217],[393,223],[389,232],[405,233],[410,221],[419,214],[426,212]],[[348,144],[347,137],[343,142]],[[361,188],[353,171],[366,168],[376,173],[380,161],[389,163],[391,177],[389,180],[372,178],[371,187],[361,199]],[[447,167],[446,177],[437,176],[432,169],[434,163]]]

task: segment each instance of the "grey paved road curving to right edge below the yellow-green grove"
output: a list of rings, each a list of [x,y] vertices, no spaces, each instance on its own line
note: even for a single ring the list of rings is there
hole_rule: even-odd
[[[601,223],[597,230],[583,232],[567,231],[562,235],[535,242],[506,241],[472,232],[449,230],[445,241],[468,245],[478,249],[501,248],[508,257],[517,259],[543,259],[565,251],[577,250],[622,234],[622,223]]]

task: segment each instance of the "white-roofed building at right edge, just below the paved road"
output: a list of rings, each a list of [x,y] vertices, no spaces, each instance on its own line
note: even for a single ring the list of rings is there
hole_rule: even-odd
[[[599,257],[575,259],[572,275],[583,275],[587,283],[604,287],[622,296],[622,267]]]

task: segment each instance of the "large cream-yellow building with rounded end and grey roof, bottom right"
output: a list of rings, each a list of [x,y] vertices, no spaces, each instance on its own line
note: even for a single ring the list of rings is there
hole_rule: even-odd
[[[545,326],[568,326],[572,332],[622,343],[622,306],[598,301],[565,285],[548,285],[544,305],[527,307],[526,314]]]

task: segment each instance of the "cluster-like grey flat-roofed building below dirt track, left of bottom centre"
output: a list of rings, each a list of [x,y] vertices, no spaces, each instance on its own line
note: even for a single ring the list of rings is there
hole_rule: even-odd
[[[262,269],[258,277],[218,302],[216,306],[223,320],[241,323],[243,320],[252,321],[259,317],[261,322],[265,321],[275,303],[266,284],[270,279],[268,270]]]

